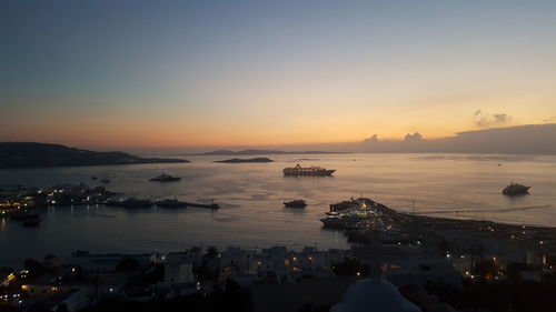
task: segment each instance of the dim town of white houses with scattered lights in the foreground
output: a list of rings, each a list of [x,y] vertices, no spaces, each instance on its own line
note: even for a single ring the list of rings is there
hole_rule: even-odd
[[[474,283],[543,283],[543,279],[554,279],[552,265],[538,253],[441,254],[423,244],[374,242],[349,250],[305,246],[297,251],[285,246],[192,246],[170,253],[47,254],[41,260],[28,259],[19,271],[2,268],[0,302],[13,311],[96,311],[95,306],[113,301],[161,304],[183,298],[211,300],[234,289],[238,298],[251,299],[241,303],[246,311],[306,311],[304,306],[330,306],[341,301],[350,284],[374,275],[398,288],[417,284],[456,292],[465,292]]]

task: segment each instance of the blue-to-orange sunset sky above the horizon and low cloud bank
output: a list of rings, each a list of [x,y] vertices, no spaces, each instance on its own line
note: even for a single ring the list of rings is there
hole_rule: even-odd
[[[556,1],[0,1],[0,141],[435,139],[556,122]]]

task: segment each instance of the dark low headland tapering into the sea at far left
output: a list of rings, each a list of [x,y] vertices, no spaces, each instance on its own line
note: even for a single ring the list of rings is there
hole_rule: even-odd
[[[125,152],[95,152],[60,144],[0,143],[0,168],[78,167],[132,163],[183,163],[183,159],[140,158]]]

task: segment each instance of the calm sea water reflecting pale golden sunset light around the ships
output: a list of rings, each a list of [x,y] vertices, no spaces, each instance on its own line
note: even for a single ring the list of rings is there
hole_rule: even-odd
[[[0,185],[50,187],[96,183],[108,174],[108,189],[128,197],[178,198],[221,204],[218,211],[73,207],[51,208],[39,228],[0,220],[0,266],[27,258],[73,250],[91,252],[178,251],[196,244],[264,248],[348,248],[339,231],[322,229],[328,204],[351,195],[371,198],[393,209],[517,224],[556,225],[556,157],[468,154],[268,155],[272,163],[214,163],[227,157],[185,157],[191,163],[0,170]],[[281,169],[319,164],[331,178],[286,178]],[[500,164],[500,165],[498,165]],[[182,177],[153,183],[161,171]],[[532,185],[530,194],[507,198],[510,181]],[[282,201],[305,199],[305,210]]]

